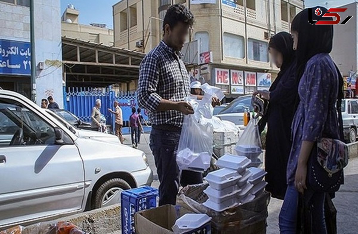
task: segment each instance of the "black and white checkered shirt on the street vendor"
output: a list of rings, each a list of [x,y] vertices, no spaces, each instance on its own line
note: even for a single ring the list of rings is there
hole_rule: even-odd
[[[164,41],[151,50],[140,65],[139,106],[149,111],[153,125],[182,127],[184,115],[179,111],[156,111],[161,99],[184,101],[190,95],[190,78],[184,62]]]

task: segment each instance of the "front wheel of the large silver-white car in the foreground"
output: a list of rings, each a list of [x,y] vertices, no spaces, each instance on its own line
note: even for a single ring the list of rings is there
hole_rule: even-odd
[[[121,193],[131,189],[131,186],[123,179],[113,178],[103,183],[95,193],[92,208],[97,209],[105,206],[121,203]]]

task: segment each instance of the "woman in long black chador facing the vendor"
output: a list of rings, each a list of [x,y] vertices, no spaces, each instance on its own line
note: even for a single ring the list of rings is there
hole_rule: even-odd
[[[291,150],[291,124],[295,113],[297,95],[296,59],[292,49],[292,36],[281,32],[270,39],[269,53],[276,66],[280,68],[269,91],[258,91],[254,95],[270,101],[266,114],[259,122],[260,132],[266,126],[265,180],[266,190],[274,198],[283,200],[287,182],[287,160]]]

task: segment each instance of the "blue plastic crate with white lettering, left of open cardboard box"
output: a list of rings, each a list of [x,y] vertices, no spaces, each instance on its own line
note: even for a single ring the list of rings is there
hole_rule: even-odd
[[[143,186],[121,193],[122,234],[135,234],[134,214],[157,206],[158,189]]]

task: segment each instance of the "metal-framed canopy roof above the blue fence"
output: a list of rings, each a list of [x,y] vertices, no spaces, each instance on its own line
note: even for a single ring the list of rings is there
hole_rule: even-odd
[[[145,54],[80,39],[62,37],[66,86],[105,87],[138,79]]]

